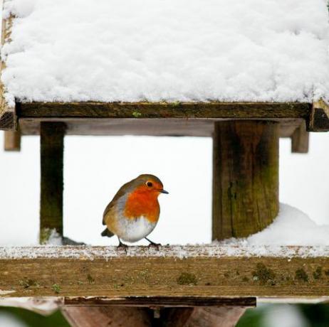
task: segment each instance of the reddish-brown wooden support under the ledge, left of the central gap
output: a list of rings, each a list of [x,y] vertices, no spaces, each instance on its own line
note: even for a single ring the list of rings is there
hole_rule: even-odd
[[[70,306],[61,311],[72,327],[151,327],[147,309]]]

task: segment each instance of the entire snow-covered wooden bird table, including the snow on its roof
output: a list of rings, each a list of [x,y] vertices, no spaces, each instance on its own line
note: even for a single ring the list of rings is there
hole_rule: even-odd
[[[182,7],[181,1],[169,1],[169,7],[166,1],[147,1],[152,12],[147,19],[145,10],[135,7],[138,1],[99,1],[96,11],[93,1],[86,0],[76,11],[71,8],[74,1],[47,0],[42,6],[41,0],[34,0],[31,8],[17,0],[4,1],[0,129],[5,131],[6,151],[19,151],[21,136],[40,135],[41,244],[52,230],[63,236],[66,135],[212,137],[212,239],[225,240],[261,231],[276,218],[279,138],[291,138],[293,152],[307,153],[309,132],[329,130],[328,74],[323,73],[329,65],[322,33],[328,20],[323,1],[313,11],[307,10],[307,1],[298,4],[305,6],[298,12],[305,12],[300,28],[306,33],[284,27],[294,49],[303,54],[297,68],[275,26],[263,30],[273,28],[278,37],[274,47],[272,38],[268,43],[254,41],[248,28],[256,11],[249,13],[248,28],[243,23],[236,27],[229,20],[234,12],[231,1],[226,6],[213,1],[210,9],[200,0]],[[124,10],[123,3],[129,3]],[[258,13],[257,19],[266,24],[273,18],[281,26],[283,4],[267,5],[272,10]],[[223,22],[216,19],[216,12],[222,11],[227,11]],[[93,20],[89,12],[114,16]],[[188,23],[188,17],[201,18]],[[313,18],[316,31],[303,24]],[[131,27],[131,20],[140,28]],[[147,31],[165,24],[155,33],[162,38],[140,32],[148,23]],[[191,28],[195,33],[189,33]],[[170,31],[168,37],[162,35]],[[194,38],[196,33],[203,38]],[[89,47],[81,35],[89,36]],[[241,35],[251,41],[244,50],[238,47],[244,45]],[[294,43],[302,36],[314,36],[310,40],[317,48],[307,40]],[[56,48],[58,40],[64,48]],[[102,40],[108,43],[100,47],[97,42]],[[217,61],[211,48],[217,44],[214,40],[221,49]],[[226,49],[227,44],[231,47]],[[132,48],[127,50],[127,45]],[[95,53],[84,55],[85,48],[95,48]],[[172,51],[169,56],[167,49]],[[244,55],[246,49],[255,57]],[[259,51],[263,52],[257,57]],[[90,62],[90,57],[97,60]],[[94,73],[99,76],[94,78]],[[122,252],[68,244],[0,248],[0,304],[16,297],[25,297],[30,308],[53,304],[73,326],[234,326],[246,308],[256,305],[256,298],[319,301],[329,296],[329,249],[280,247],[273,252],[267,247],[259,254],[238,246],[191,245],[130,247]]]

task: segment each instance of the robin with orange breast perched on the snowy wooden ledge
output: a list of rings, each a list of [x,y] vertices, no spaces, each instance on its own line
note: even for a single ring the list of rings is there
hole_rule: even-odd
[[[159,220],[160,205],[157,197],[164,191],[159,178],[143,174],[125,183],[117,191],[103,213],[102,236],[117,235],[119,247],[127,247],[121,240],[137,242],[145,238],[150,245],[157,245],[147,238]]]

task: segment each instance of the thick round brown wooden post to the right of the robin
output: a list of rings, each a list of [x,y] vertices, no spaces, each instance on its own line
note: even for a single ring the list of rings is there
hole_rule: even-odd
[[[278,124],[219,122],[213,142],[213,240],[263,230],[278,214]]]

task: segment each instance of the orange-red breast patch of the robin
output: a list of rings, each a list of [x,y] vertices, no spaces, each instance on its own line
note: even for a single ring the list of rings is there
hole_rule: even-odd
[[[125,216],[127,218],[144,216],[151,223],[157,222],[160,215],[157,195],[155,192],[139,190],[130,193],[125,203]]]

